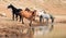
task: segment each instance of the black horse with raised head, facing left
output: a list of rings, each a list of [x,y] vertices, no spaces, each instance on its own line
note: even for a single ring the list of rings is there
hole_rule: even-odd
[[[18,16],[20,16],[20,22],[21,22],[20,11],[22,11],[22,9],[16,9],[12,4],[8,5],[8,9],[12,9],[12,20],[14,21],[14,15],[15,15],[16,21],[18,21]]]

